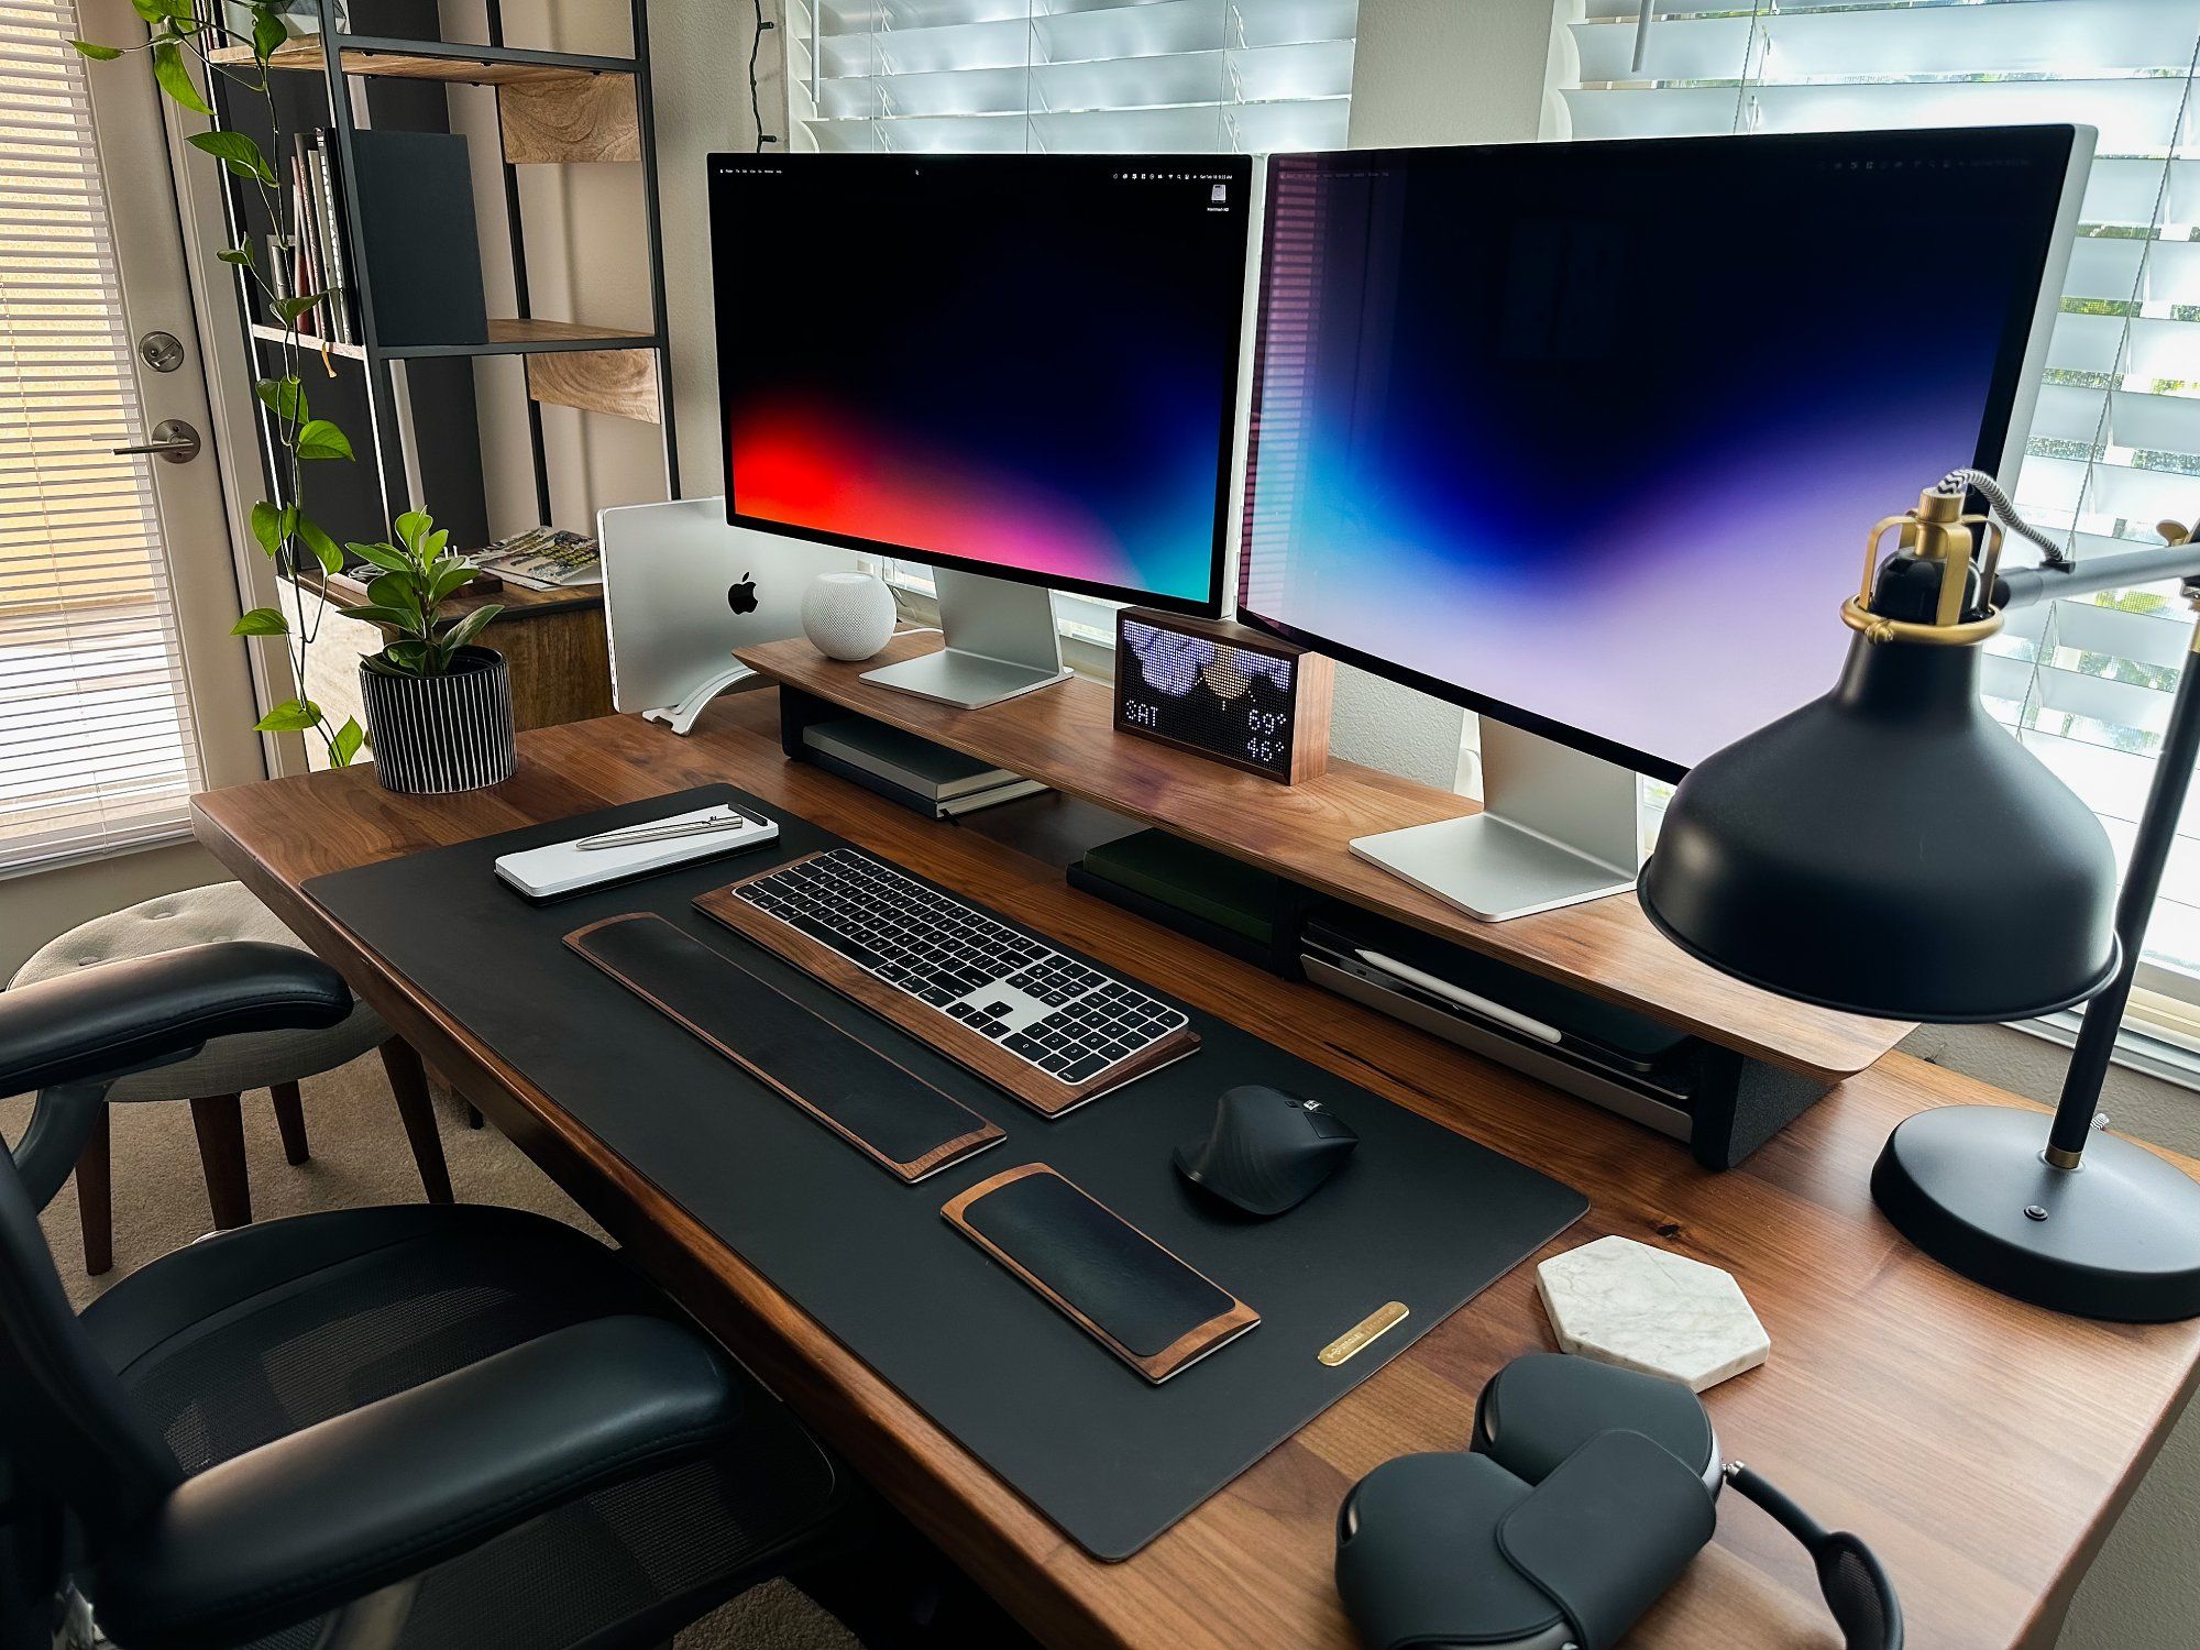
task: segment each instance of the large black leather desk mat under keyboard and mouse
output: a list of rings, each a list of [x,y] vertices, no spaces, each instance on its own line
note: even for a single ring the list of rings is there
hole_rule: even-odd
[[[779,840],[550,904],[491,871],[499,854],[728,801],[763,807]],[[704,785],[337,871],[306,891],[1096,1558],[1135,1553],[1588,1208],[1181,1001],[1197,1054],[1045,1120],[689,909],[752,867],[840,845],[748,792]],[[623,911],[656,911],[735,957],[1008,1142],[922,1186],[882,1175],[565,948],[563,935]],[[1170,997],[1166,979],[1140,983]],[[1320,1100],[1360,1133],[1351,1162],[1274,1221],[1217,1210],[1168,1162],[1234,1082]],[[1148,1386],[942,1219],[950,1197],[1019,1162],[1052,1164],[1263,1322]],[[1406,1302],[1406,1322],[1338,1368],[1316,1360],[1388,1300]]]

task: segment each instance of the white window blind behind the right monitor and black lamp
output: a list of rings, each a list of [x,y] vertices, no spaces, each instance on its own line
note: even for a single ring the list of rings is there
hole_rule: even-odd
[[[1652,11],[1641,29],[1637,0],[1586,0],[1569,29],[1571,136],[2099,128],[2017,502],[2077,557],[2156,546],[2156,521],[2200,515],[2200,0],[1654,0]],[[1826,255],[1870,279],[1874,257],[1905,253]],[[1745,271],[1738,253],[1734,273]],[[1951,301],[1960,290],[1951,268]],[[2011,539],[2013,563],[2028,559],[2022,548]],[[1839,594],[1828,592],[1828,618]],[[2108,592],[2013,614],[1987,662],[1995,715],[2092,805],[2119,854],[2189,629],[2174,585]],[[1991,858],[1991,845],[1982,851]],[[2200,810],[2189,801],[2147,959],[2143,983],[2200,992]]]

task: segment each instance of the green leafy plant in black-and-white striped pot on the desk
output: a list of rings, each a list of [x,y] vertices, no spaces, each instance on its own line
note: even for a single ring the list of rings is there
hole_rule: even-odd
[[[385,790],[411,794],[495,785],[517,763],[513,686],[504,656],[473,638],[504,609],[442,618],[442,605],[473,583],[473,565],[449,554],[451,535],[425,510],[400,515],[396,530],[396,543],[350,546],[381,572],[365,603],[339,609],[396,631],[381,653],[359,660],[374,774]]]

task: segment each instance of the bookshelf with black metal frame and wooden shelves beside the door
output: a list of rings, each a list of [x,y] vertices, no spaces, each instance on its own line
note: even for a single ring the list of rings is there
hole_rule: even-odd
[[[332,0],[317,0],[319,29],[279,46],[271,57],[273,79],[286,110],[284,125],[326,125],[339,176],[350,185],[363,176],[361,134],[387,123],[409,130],[449,130],[442,92],[449,86],[493,86],[497,95],[499,172],[510,246],[510,290],[517,315],[488,317],[486,339],[387,341],[376,326],[367,235],[374,227],[361,213],[359,189],[343,189],[339,222],[341,255],[352,282],[356,341],[301,339],[310,356],[345,363],[356,383],[321,387],[315,374],[315,405],[330,396],[354,436],[361,497],[348,499],[339,521],[323,521],[339,541],[385,537],[387,521],[414,504],[436,510],[453,526],[458,541],[486,541],[482,502],[480,431],[473,411],[475,356],[524,356],[526,420],[535,464],[539,519],[554,521],[550,469],[543,451],[543,405],[572,407],[592,416],[631,418],[656,425],[664,462],[667,497],[680,493],[680,460],[673,431],[671,350],[664,321],[664,244],[658,218],[658,156],[649,97],[647,0],[629,0],[631,57],[528,51],[504,44],[499,0],[486,2],[486,42],[444,42],[431,0],[352,0],[354,20],[374,13],[396,26],[414,24],[416,35],[367,35],[337,26]],[[216,62],[251,66],[249,48],[222,48]],[[359,88],[354,84],[365,84]],[[409,86],[405,86],[409,84]],[[381,88],[381,90],[367,90]],[[359,92],[354,97],[354,90]],[[227,123],[238,99],[216,77],[216,125]],[[249,101],[249,99],[246,99]],[[260,134],[266,139],[268,134]],[[275,154],[271,150],[271,154]],[[275,156],[277,163],[282,156]],[[528,246],[521,213],[519,167],[572,163],[629,163],[638,167],[647,220],[647,273],[651,321],[647,330],[559,321],[532,315],[528,299]],[[251,220],[249,196],[238,180],[224,189],[231,244],[244,244],[268,224]],[[493,211],[495,202],[475,202]],[[262,367],[273,367],[284,332],[264,315],[249,279],[238,275],[240,321]],[[455,374],[455,376],[453,376]],[[350,420],[345,420],[350,411]],[[271,414],[262,407],[262,420]],[[372,451],[370,451],[372,449]],[[262,442],[271,473],[271,497],[282,499],[282,473],[273,431]],[[315,475],[317,495],[330,480]],[[414,497],[414,495],[420,497]],[[317,506],[317,515],[319,515]],[[568,524],[585,526],[585,524]],[[356,530],[354,530],[356,528]]]

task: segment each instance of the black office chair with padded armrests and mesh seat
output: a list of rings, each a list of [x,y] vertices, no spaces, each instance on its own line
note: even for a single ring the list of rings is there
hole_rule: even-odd
[[[601,1243],[477,1206],[194,1243],[70,1313],[37,1225],[106,1087],[330,1025],[334,970],[231,942],[0,994],[0,1646],[647,1646],[845,1542],[854,1489]]]

